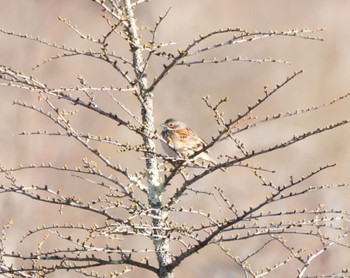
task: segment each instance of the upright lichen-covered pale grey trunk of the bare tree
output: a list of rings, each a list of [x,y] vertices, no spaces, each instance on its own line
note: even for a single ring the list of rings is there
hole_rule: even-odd
[[[153,152],[155,151],[155,143],[152,139],[155,127],[153,116],[153,92],[147,90],[147,76],[144,73],[145,63],[142,58],[141,41],[138,36],[138,28],[134,17],[134,12],[130,0],[123,0],[125,7],[126,21],[128,22],[126,31],[129,37],[130,50],[133,55],[133,68],[135,71],[135,82],[139,87],[139,94],[143,101],[142,103],[142,123],[144,125],[143,142]],[[156,157],[151,153],[146,153],[146,172],[147,182],[149,186],[148,201],[153,213],[153,226],[155,229],[152,240],[157,255],[159,264],[158,276],[162,278],[173,277],[173,271],[168,269],[171,263],[171,256],[169,252],[169,240],[164,230],[159,229],[165,227],[165,219],[167,218],[167,211],[162,210],[161,196],[163,193],[163,185],[160,182],[159,171]],[[157,231],[157,232],[156,232]]]

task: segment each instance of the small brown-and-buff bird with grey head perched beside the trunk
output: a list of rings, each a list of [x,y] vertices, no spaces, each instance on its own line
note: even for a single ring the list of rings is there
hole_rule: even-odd
[[[174,118],[167,119],[162,125],[161,136],[165,152],[171,157],[188,158],[195,152],[200,151],[207,144],[196,132],[190,129],[185,123]],[[205,150],[193,158],[196,162],[208,162],[216,165],[217,162],[211,158]],[[198,164],[198,163],[197,163]]]

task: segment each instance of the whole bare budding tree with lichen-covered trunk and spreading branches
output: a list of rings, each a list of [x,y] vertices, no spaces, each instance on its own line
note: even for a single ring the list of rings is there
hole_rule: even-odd
[[[20,135],[41,135],[49,138],[60,136],[66,138],[67,142],[74,139],[90,156],[94,157],[93,159],[82,158],[81,164],[74,167],[52,165],[47,162],[41,165],[18,165],[15,168],[2,166],[0,193],[19,194],[32,199],[33,202],[47,203],[49,207],[57,208],[62,213],[66,207],[84,211],[89,214],[90,219],[96,219],[93,225],[72,223],[45,225],[43,223],[42,226],[27,232],[22,241],[29,241],[37,234],[49,234],[56,238],[56,248],[46,248],[48,236],[44,236],[42,241],[33,245],[32,251],[28,253],[9,250],[6,234],[10,231],[11,223],[5,225],[0,241],[2,275],[43,277],[66,270],[82,276],[105,277],[104,275],[109,273],[111,277],[115,277],[134,269],[142,269],[153,272],[158,277],[174,277],[175,270],[182,262],[194,254],[201,253],[209,246],[216,246],[239,267],[245,277],[263,277],[292,261],[298,263],[295,276],[306,277],[308,267],[313,260],[331,246],[349,247],[344,241],[348,235],[346,211],[326,208],[323,204],[319,204],[313,210],[297,206],[293,209],[281,210],[275,206],[315,191],[348,186],[347,183],[309,185],[314,176],[334,167],[335,164],[318,165],[315,170],[302,173],[300,177],[290,176],[289,181],[280,184],[265,179],[265,175],[274,173],[273,170],[264,166],[255,166],[251,162],[256,157],[285,149],[306,138],[346,125],[349,120],[310,129],[285,141],[262,148],[250,149],[238,139],[240,134],[248,130],[281,119],[311,113],[349,96],[346,94],[330,100],[329,103],[294,112],[281,112],[274,116],[256,118],[254,112],[267,103],[272,96],[283,91],[283,88],[298,77],[302,70],[292,73],[284,82],[273,88],[266,86],[261,97],[236,117],[227,118],[221,111],[221,107],[229,101],[228,98],[212,102],[209,97],[203,97],[208,112],[212,113],[218,127],[217,133],[212,135],[210,142],[189,157],[180,155],[170,157],[164,155],[162,150],[156,149],[156,142],[163,139],[155,125],[154,94],[157,92],[158,85],[165,78],[170,78],[167,76],[170,70],[182,66],[233,61],[286,63],[272,58],[217,59],[213,57],[208,59],[203,58],[205,57],[203,55],[208,56],[213,50],[224,46],[234,47],[237,44],[271,37],[322,40],[314,35],[315,32],[322,30],[248,31],[241,28],[227,28],[200,35],[183,49],[169,51],[167,47],[172,46],[173,43],[157,40],[157,30],[169,11],[159,17],[153,28],[146,29],[150,39],[143,41],[139,35],[140,26],[136,23],[134,12],[139,6],[146,5],[145,2],[148,1],[93,0],[92,2],[101,7],[102,17],[109,28],[108,32],[100,37],[86,35],[70,21],[64,18],[60,20],[81,39],[98,46],[98,50],[70,48],[1,29],[2,34],[33,40],[59,51],[44,63],[64,57],[90,57],[106,63],[118,77],[122,78],[122,81],[118,81],[120,86],[96,87],[79,75],[77,86],[54,88],[46,85],[45,81],[17,69],[6,65],[0,66],[1,86],[22,89],[39,100],[35,105],[23,101],[15,101],[14,104],[35,111],[47,118],[52,123],[52,127],[57,128],[56,131],[52,129],[24,131]],[[227,36],[228,39],[226,39]],[[128,55],[122,56],[114,51],[110,46],[113,40],[119,40],[120,44],[127,46]],[[121,46],[118,47],[120,48]],[[148,72],[151,62],[163,64],[163,68],[156,76],[151,76]],[[4,90],[3,93],[6,92]],[[139,112],[133,112],[126,103],[121,101],[121,95],[138,103]],[[101,96],[108,97],[119,106],[121,112],[111,112],[108,106],[104,106]],[[66,107],[70,110],[66,110]],[[131,144],[110,136],[79,131],[74,124],[74,119],[81,111],[88,111],[90,117],[101,116],[105,121],[112,121],[142,140],[138,144]],[[194,163],[197,155],[223,141],[231,142],[239,154],[231,156],[229,153],[224,153],[215,165]],[[144,168],[134,168],[132,163],[128,163],[128,159],[116,160],[113,157],[116,151],[125,153],[126,157],[141,158],[145,164]],[[235,205],[232,196],[225,194],[220,185],[212,189],[198,189],[200,188],[198,184],[214,173],[229,177],[230,168],[249,170],[266,192],[266,197],[254,204],[239,206]],[[66,195],[53,189],[51,185],[28,185],[15,177],[16,172],[28,169],[31,171],[47,169],[71,174],[72,179],[80,179],[83,184],[89,183],[96,186],[100,194],[93,199],[84,200],[81,196]],[[221,172],[222,169],[225,171]],[[83,187],[82,190],[84,190]],[[181,201],[186,196],[193,196],[193,199],[207,198],[217,204],[217,209],[209,212],[205,207],[195,209],[191,204],[184,206]],[[189,217],[191,224],[185,224],[183,219]],[[320,247],[316,250],[299,250],[286,240],[290,237],[316,239]],[[256,245],[254,250],[247,250],[243,256],[238,256],[235,250],[229,249],[232,243],[254,239],[261,239],[261,243]],[[133,240],[139,240],[137,248],[128,247]],[[277,244],[287,255],[284,258],[277,258],[273,265],[259,267],[256,258],[268,252],[270,246],[274,244]],[[331,275],[340,275],[341,271],[347,270],[339,270],[339,273]],[[322,273],[314,275],[320,274]]]

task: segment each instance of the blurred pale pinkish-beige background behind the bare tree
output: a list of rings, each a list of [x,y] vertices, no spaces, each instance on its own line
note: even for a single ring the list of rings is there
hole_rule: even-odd
[[[92,1],[83,0],[0,0],[0,28],[33,37],[39,36],[47,41],[65,44],[78,49],[89,49],[91,44],[58,20],[58,16],[67,18],[76,24],[80,31],[95,37],[101,37],[108,32],[108,26],[101,17],[99,6]],[[158,42],[173,41],[176,51],[184,48],[198,35],[206,34],[227,27],[241,27],[248,30],[286,30],[291,28],[316,29],[325,28],[321,36],[325,41],[304,40],[298,38],[274,37],[258,40],[237,46],[227,46],[207,53],[204,58],[217,57],[249,57],[261,59],[272,57],[291,62],[291,65],[277,63],[246,63],[229,62],[226,64],[206,64],[192,67],[177,67],[159,84],[155,91],[155,118],[159,126],[169,117],[186,122],[205,140],[209,141],[217,134],[218,126],[211,111],[202,101],[203,96],[210,95],[211,101],[216,102],[225,96],[229,101],[222,106],[225,117],[235,117],[237,113],[246,110],[247,105],[255,103],[263,96],[264,85],[270,88],[282,83],[294,71],[304,70],[304,73],[290,82],[277,95],[272,97],[261,108],[255,111],[256,116],[264,118],[279,112],[294,111],[313,105],[321,105],[334,98],[346,94],[350,89],[350,2],[345,0],[310,0],[310,1],[238,1],[238,0],[154,0],[140,5],[136,10],[139,26],[153,27],[158,16],[163,16],[170,8],[168,16],[158,29]],[[144,39],[148,39],[147,31],[141,31]],[[227,38],[227,37],[226,37]],[[225,39],[225,37],[223,37]],[[218,40],[220,38],[218,37]],[[211,40],[210,42],[215,42]],[[127,48],[120,41],[112,42],[116,53],[122,53],[128,58]],[[91,58],[63,58],[48,63],[33,70],[44,59],[57,54],[57,50],[45,45],[0,34],[0,64],[8,65],[28,75],[35,75],[39,80],[53,87],[75,87],[79,85],[77,75],[86,78],[93,86],[124,86],[120,76],[99,61]],[[162,69],[164,61],[155,59],[149,65],[150,80]],[[53,164],[71,166],[81,164],[81,158],[88,156],[86,151],[67,138],[45,136],[13,136],[32,130],[57,130],[47,119],[33,111],[12,105],[13,100],[23,100],[37,104],[35,96],[8,87],[0,87],[1,118],[0,122],[0,163],[6,167],[19,164],[52,162]],[[139,106],[127,95],[120,96],[121,100],[138,113]],[[101,100],[108,110],[120,109],[114,107],[108,100]],[[104,102],[103,102],[104,101]],[[345,100],[324,109],[309,114],[296,116],[291,119],[269,123],[265,126],[242,133],[238,138],[245,143],[247,149],[261,149],[287,140],[293,134],[301,134],[310,129],[326,126],[330,123],[349,118],[349,101]],[[117,110],[116,110],[117,111]],[[93,134],[109,135],[122,138],[131,143],[139,143],[140,138],[125,132],[112,121],[103,118],[89,117],[84,114],[77,117],[75,124],[79,130]],[[91,115],[90,115],[91,116]],[[256,166],[276,170],[275,174],[264,173],[267,180],[275,184],[287,183],[289,176],[299,177],[327,163],[337,163],[336,168],[327,170],[310,180],[307,185],[323,185],[327,183],[347,182],[350,178],[349,138],[350,126],[343,126],[332,132],[327,132],[306,139],[288,149],[273,154],[260,156],[251,161]],[[160,146],[160,145],[159,145]],[[238,155],[238,150],[232,142],[223,142],[212,149],[213,157],[220,154]],[[117,160],[125,162],[126,157],[118,155]],[[142,168],[143,161],[139,157],[128,157],[128,162]],[[83,185],[79,179],[63,172],[54,171],[23,171],[17,178],[26,185],[50,184],[69,194],[76,194],[85,200],[90,200],[100,194],[98,188]],[[241,209],[264,199],[266,188],[262,188],[247,169],[230,169],[227,174],[214,174],[202,181],[197,188],[212,191],[214,185],[225,189],[225,194]],[[87,187],[87,189],[84,188]],[[83,190],[82,190],[83,189]],[[82,193],[83,192],[83,193]],[[293,202],[280,202],[277,209],[292,208],[315,209],[318,204],[325,208],[349,209],[349,188],[324,190],[305,195]],[[205,198],[186,198],[182,205],[203,208],[206,211],[215,209],[215,201],[203,202]],[[14,224],[9,232],[8,247],[11,250],[33,249],[35,239],[19,243],[19,238],[34,229],[40,223],[75,223],[93,224],[95,219],[82,216],[76,211],[66,210],[61,215],[55,208],[47,209],[43,204],[37,204],[22,196],[9,194],[0,195],[0,225],[9,219]],[[190,219],[183,220],[188,221]],[[100,220],[99,220],[100,221]],[[244,256],[259,246],[259,242],[246,242],[232,245],[233,255]],[[309,247],[305,238],[291,239],[292,245],[299,248]],[[54,246],[54,242],[52,246]],[[311,244],[312,245],[312,244]],[[317,248],[315,243],[311,248]],[[271,266],[285,253],[281,249],[271,249],[268,256],[258,258],[255,267]],[[334,248],[317,258],[310,267],[313,273],[330,274],[341,268],[349,267],[350,250]],[[268,277],[295,277],[297,262],[292,262],[290,268],[271,273]],[[287,270],[287,271],[286,271]],[[136,271],[125,277],[154,277],[150,273]],[[286,274],[290,273],[290,274]],[[75,277],[74,274],[61,273],[60,277]],[[58,277],[57,275],[52,277]],[[63,276],[62,276],[63,275]],[[64,276],[68,275],[68,276]],[[212,246],[199,255],[193,256],[183,263],[176,272],[177,276],[187,277],[233,277],[242,275],[237,266],[218,248]],[[240,277],[240,276],[236,276]]]

